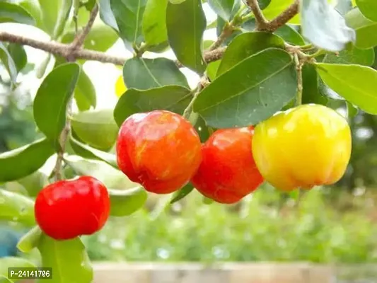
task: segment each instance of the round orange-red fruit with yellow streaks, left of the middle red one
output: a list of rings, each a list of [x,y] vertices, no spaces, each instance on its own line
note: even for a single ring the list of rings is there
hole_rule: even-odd
[[[186,185],[202,153],[199,135],[182,116],[166,110],[137,113],[120,127],[117,163],[147,191],[167,194]]]

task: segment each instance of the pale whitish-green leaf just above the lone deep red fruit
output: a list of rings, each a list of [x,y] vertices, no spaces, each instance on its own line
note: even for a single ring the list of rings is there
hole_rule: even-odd
[[[66,163],[78,175],[91,175],[100,180],[106,187],[126,190],[137,187],[139,184],[132,182],[124,173],[103,161],[89,160],[80,156],[66,156]]]

